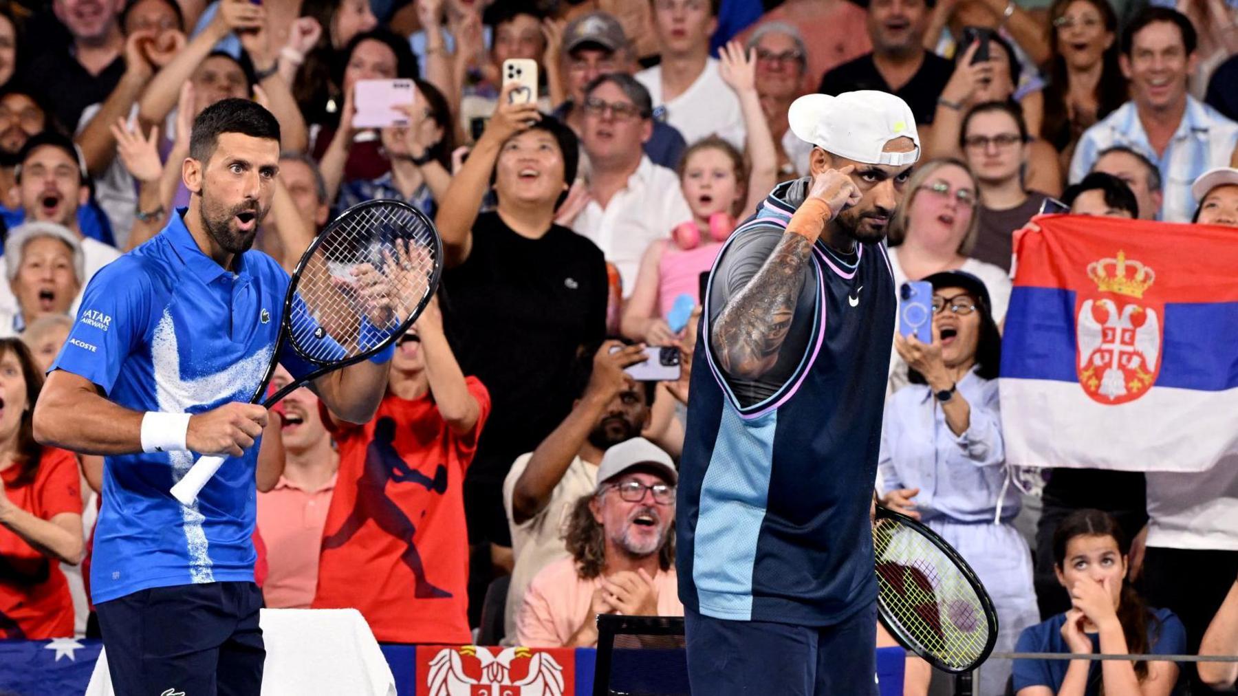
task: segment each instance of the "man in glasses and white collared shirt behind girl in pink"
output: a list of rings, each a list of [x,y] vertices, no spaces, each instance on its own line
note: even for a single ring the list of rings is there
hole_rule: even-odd
[[[618,266],[624,296],[636,286],[645,249],[692,219],[680,178],[641,150],[652,135],[649,92],[626,74],[604,74],[584,90],[581,144],[591,171],[588,201],[571,227]]]

